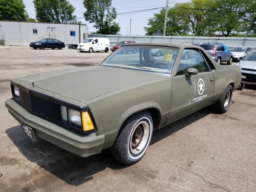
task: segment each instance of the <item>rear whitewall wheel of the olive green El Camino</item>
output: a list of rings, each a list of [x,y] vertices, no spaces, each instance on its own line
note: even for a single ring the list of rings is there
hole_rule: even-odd
[[[220,98],[215,102],[214,109],[219,113],[226,113],[232,100],[233,88],[232,85],[228,85]]]

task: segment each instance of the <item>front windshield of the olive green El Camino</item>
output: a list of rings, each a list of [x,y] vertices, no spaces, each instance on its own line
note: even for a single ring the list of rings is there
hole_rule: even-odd
[[[101,65],[170,74],[178,48],[167,46],[122,46]]]

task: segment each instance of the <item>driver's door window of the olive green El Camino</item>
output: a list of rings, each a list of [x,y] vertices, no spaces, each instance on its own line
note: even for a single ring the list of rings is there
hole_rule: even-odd
[[[176,75],[184,75],[188,68],[196,68],[199,73],[209,71],[209,68],[199,52],[194,49],[184,49]]]

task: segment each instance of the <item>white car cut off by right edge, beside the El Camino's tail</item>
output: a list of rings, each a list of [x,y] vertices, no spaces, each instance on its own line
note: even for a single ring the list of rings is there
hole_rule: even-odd
[[[245,56],[236,66],[242,70],[242,84],[256,85],[256,51]]]

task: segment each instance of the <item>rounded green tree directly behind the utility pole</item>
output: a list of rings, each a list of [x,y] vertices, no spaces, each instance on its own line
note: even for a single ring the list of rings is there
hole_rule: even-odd
[[[148,26],[144,27],[146,35],[163,35],[164,31],[164,14],[165,9],[148,20]],[[175,36],[187,34],[187,25],[181,21],[181,17],[177,14],[177,10],[169,9],[166,21],[166,36]]]

